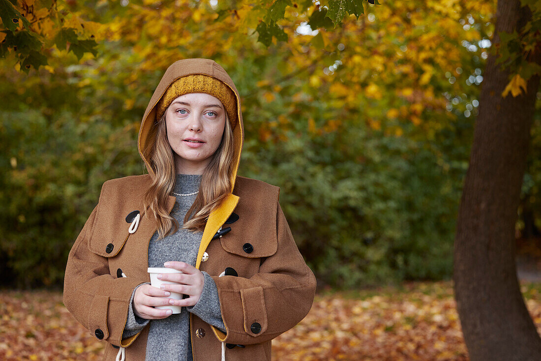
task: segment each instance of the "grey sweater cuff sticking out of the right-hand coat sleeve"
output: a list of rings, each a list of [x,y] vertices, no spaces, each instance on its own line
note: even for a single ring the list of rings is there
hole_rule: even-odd
[[[222,313],[220,310],[220,299],[218,297],[218,289],[210,275],[201,271],[204,277],[203,291],[197,303],[193,306],[186,306],[188,312],[192,312],[197,317],[209,325],[215,326],[220,331],[226,332],[226,326],[223,324]]]

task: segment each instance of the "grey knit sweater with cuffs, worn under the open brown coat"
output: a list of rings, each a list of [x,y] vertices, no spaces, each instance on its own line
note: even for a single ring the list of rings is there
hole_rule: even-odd
[[[199,174],[177,174],[175,189],[173,192],[189,194],[199,190],[201,175]],[[171,210],[171,215],[182,227],[184,215],[192,206],[196,195],[176,196],[176,203]],[[154,233],[148,246],[148,266],[163,267],[167,261],[182,261],[195,267],[197,252],[203,233],[192,233],[186,229],[179,229],[161,240],[157,240],[158,233]],[[189,330],[189,314],[192,312],[203,321],[213,325],[225,332],[225,326],[220,311],[220,301],[214,280],[207,272],[202,271],[204,276],[203,292],[201,298],[194,306],[182,307],[181,313],[171,314],[163,319],[143,319],[134,314],[133,298],[131,294],[128,320],[122,333],[122,338],[133,336],[141,331],[144,326],[150,323],[147,339],[146,360],[164,361],[193,361],[192,341]],[[129,275],[127,275],[129,277]]]

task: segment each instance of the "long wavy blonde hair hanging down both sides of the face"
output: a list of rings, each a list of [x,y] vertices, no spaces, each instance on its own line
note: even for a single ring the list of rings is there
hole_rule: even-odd
[[[154,215],[158,223],[158,239],[174,234],[179,229],[179,222],[171,217],[166,209],[167,196],[175,187],[176,172],[180,172],[180,169],[175,169],[173,149],[167,139],[166,114],[167,111],[154,124],[157,129],[154,142],[149,145],[153,148],[149,163],[155,176],[143,202],[144,209]],[[199,193],[197,193],[192,207],[184,216],[182,228],[188,229],[188,231],[203,232],[210,213],[218,208],[227,195],[232,192],[233,129],[227,113],[225,115],[226,124],[220,146],[203,170]],[[150,169],[147,170],[151,173]]]

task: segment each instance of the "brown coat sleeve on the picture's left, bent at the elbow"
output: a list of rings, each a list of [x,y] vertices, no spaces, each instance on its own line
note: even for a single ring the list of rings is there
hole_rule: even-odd
[[[108,181],[103,183],[102,193],[107,186]],[[98,202],[68,255],[63,302],[69,312],[93,336],[115,346],[126,347],[140,334],[122,340],[131,294],[137,285],[146,280],[117,278],[111,275],[108,259],[88,249],[96,213],[100,207]]]

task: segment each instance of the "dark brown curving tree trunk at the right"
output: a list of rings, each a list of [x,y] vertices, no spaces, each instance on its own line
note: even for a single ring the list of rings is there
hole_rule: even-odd
[[[519,0],[500,0],[496,16],[492,46],[500,31],[522,28],[531,13]],[[509,72],[495,60],[489,55],[460,200],[454,293],[471,360],[538,361],[541,339],[520,293],[514,227],[539,76],[530,78],[526,94],[504,99]]]

